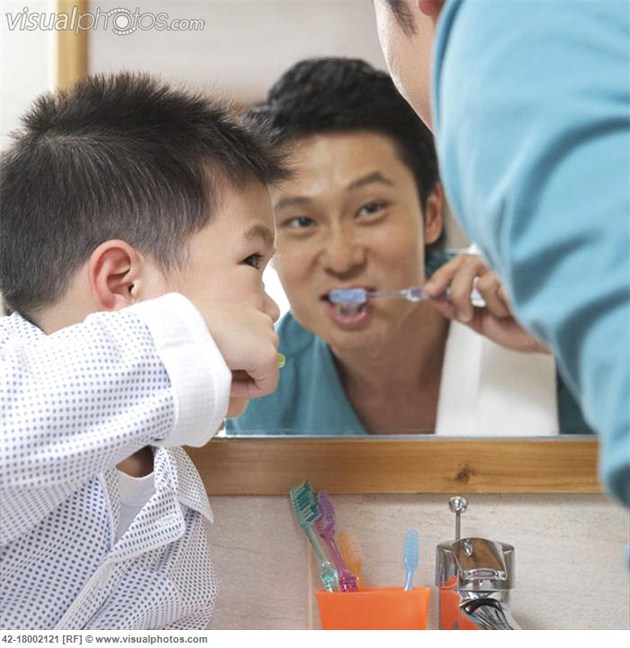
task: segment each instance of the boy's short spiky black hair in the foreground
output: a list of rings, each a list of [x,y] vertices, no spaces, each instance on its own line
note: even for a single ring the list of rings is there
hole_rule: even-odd
[[[0,293],[24,316],[60,299],[109,239],[181,267],[223,187],[288,176],[264,128],[143,74],[45,94],[22,123],[0,160]]]

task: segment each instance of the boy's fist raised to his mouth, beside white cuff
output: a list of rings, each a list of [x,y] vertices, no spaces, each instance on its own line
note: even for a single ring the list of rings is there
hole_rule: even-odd
[[[275,391],[280,371],[272,318],[243,303],[193,303],[232,371],[230,397],[260,398]]]

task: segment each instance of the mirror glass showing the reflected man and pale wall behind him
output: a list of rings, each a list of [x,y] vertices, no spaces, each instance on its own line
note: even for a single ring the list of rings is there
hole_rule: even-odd
[[[228,435],[590,433],[553,358],[518,327],[500,284],[445,218],[432,140],[381,71],[369,3],[145,9],[203,29],[95,30],[89,71],[145,70],[226,94],[250,119],[272,122],[294,169],[272,190],[278,253],[268,276],[278,279],[269,292],[285,311],[287,362],[278,392],[228,421]],[[299,63],[313,57],[343,60]],[[330,299],[338,288],[429,278],[450,286],[450,300]],[[473,287],[486,309],[473,311]]]

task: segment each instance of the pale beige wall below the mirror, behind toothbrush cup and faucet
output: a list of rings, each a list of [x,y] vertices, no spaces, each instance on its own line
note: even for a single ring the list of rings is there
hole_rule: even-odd
[[[408,528],[415,584],[433,585],[435,546],[454,534],[448,496],[333,496],[365,554],[369,584],[403,583]],[[525,629],[629,629],[628,512],[604,495],[469,495],[462,535],[513,544],[512,611]],[[317,628],[314,565],[285,497],[215,497],[210,531],[221,591],[215,629]],[[437,627],[435,589],[429,627]]]

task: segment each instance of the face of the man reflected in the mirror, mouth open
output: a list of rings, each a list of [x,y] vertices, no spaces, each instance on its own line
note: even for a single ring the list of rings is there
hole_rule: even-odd
[[[292,159],[295,176],[272,200],[274,266],[293,314],[339,350],[387,342],[417,305],[375,300],[340,307],[328,295],[421,285],[424,245],[442,230],[439,199],[429,198],[435,215],[423,219],[415,178],[383,135],[315,135],[296,144]]]

